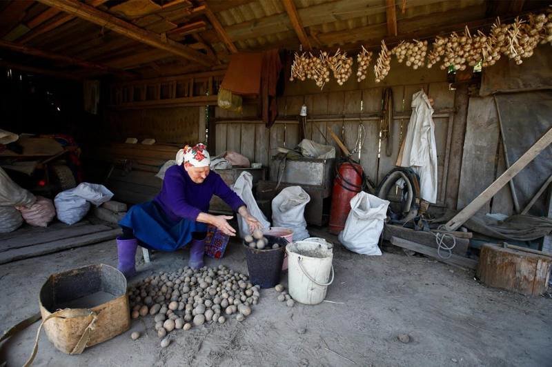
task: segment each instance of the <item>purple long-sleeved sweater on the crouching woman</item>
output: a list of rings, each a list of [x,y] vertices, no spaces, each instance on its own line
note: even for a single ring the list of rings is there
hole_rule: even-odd
[[[195,184],[183,166],[172,166],[166,170],[161,192],[154,200],[163,208],[169,219],[179,221],[184,218],[196,221],[199,212],[209,210],[209,201],[213,194],[224,200],[235,212],[240,206],[245,205],[217,172],[210,171],[201,184]]]

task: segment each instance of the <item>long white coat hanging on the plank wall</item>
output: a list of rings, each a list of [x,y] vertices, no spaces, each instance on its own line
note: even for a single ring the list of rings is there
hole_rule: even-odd
[[[433,108],[423,90],[412,96],[412,116],[397,166],[411,167],[420,176],[420,197],[437,201],[437,146]]]

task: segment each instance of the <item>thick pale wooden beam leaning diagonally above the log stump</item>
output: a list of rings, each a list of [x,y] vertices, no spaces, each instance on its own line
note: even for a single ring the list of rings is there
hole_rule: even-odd
[[[486,188],[479,196],[477,196],[473,201],[471,201],[466,208],[460,210],[457,215],[453,217],[450,221],[445,224],[446,230],[457,230],[462,224],[464,224],[468,219],[473,217],[477,210],[479,210],[487,201],[491,200],[491,197],[495,194],[508,182],[515,177],[529,162],[533,161],[535,157],[539,155],[542,150],[548,147],[552,143],[552,128],[546,132],[536,143],[527,150],[524,155],[517,159],[510,168],[504,171],[500,177],[495,179],[493,184]]]

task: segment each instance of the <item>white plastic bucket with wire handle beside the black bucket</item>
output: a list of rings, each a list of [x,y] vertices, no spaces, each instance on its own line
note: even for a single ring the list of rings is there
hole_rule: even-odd
[[[286,246],[288,253],[288,288],[295,301],[319,304],[333,282],[333,251],[326,244],[297,241]]]

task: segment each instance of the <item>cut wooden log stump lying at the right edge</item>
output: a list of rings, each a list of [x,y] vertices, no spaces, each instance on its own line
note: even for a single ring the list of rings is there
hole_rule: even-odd
[[[484,244],[477,277],[487,286],[538,296],[548,288],[552,257]]]

